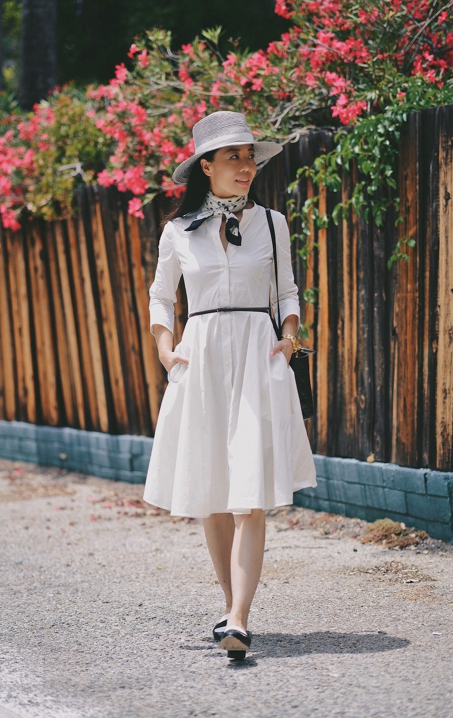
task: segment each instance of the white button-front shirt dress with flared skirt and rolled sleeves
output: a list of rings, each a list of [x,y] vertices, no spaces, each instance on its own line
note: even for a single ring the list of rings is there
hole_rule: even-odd
[[[300,321],[286,218],[271,210],[276,233],[281,322]],[[168,222],[149,288],[154,324],[174,328],[177,286],[184,277],[188,312],[266,307],[277,317],[274,258],[266,210],[243,210],[242,244],[220,239],[221,217],[185,232],[197,212]],[[189,317],[174,351],[189,359],[168,373],[154,432],[143,498],[172,516],[250,513],[293,503],[293,492],[317,486],[294,371],[266,312],[213,312]]]

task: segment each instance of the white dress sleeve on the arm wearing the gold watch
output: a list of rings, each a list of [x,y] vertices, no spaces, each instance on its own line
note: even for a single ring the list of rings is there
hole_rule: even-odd
[[[291,264],[291,240],[286,218],[281,213],[271,212],[275,227],[275,240],[277,249],[277,276],[279,278],[279,307],[281,324],[289,314],[296,314],[300,324],[299,290],[294,281],[294,273]],[[277,292],[275,284],[274,258],[271,269],[271,302],[274,309],[274,317],[279,322],[277,309]]]

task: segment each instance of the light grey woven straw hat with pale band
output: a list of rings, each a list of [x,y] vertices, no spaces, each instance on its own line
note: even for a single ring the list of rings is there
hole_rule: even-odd
[[[248,129],[246,116],[241,112],[213,112],[199,120],[192,128],[195,142],[195,154],[185,159],[174,170],[172,180],[175,185],[187,185],[190,172],[197,159],[205,152],[230,144],[253,144],[257,169],[282,151],[283,146],[276,142],[256,142]]]

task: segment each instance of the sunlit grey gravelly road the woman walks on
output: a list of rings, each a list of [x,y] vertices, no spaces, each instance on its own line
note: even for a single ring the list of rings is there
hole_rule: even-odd
[[[270,511],[246,661],[200,519],[0,459],[0,718],[453,718],[453,546]]]

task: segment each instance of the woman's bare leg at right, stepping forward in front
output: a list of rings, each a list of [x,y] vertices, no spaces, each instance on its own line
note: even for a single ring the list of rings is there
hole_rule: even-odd
[[[235,514],[235,532],[231,549],[231,587],[233,605],[228,625],[247,630],[248,613],[263,567],[266,515],[261,508]]]

